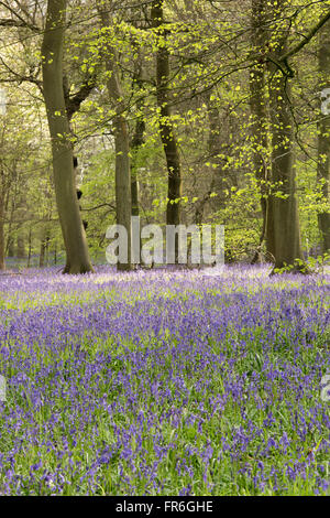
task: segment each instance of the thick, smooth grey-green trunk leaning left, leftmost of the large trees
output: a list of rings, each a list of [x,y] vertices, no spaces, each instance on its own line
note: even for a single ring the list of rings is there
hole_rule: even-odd
[[[56,204],[67,255],[65,273],[92,271],[74,177],[70,129],[63,90],[66,0],[48,0],[42,44],[43,85],[52,140]]]

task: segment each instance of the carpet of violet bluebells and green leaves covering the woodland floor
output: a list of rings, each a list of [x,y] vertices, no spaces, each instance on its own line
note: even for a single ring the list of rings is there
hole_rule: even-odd
[[[0,495],[330,495],[330,272],[0,277]]]

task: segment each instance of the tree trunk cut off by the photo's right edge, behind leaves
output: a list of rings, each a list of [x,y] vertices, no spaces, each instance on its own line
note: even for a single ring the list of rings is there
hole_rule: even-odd
[[[330,23],[319,32],[320,91],[330,88]],[[328,209],[318,215],[322,252],[330,252],[330,114],[322,114],[318,125],[318,180],[322,182],[323,203]]]

